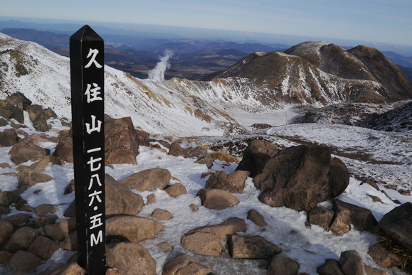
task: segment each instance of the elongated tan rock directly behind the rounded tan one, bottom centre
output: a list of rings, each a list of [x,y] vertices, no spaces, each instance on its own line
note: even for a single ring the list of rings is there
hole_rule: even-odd
[[[206,232],[215,234],[218,239],[225,241],[228,235],[233,235],[236,232],[245,232],[246,223],[244,220],[239,219],[238,217],[230,217],[228,220],[221,222],[218,225],[206,225],[203,227],[197,227],[194,230],[190,230],[185,233],[186,235],[193,234],[194,232]]]

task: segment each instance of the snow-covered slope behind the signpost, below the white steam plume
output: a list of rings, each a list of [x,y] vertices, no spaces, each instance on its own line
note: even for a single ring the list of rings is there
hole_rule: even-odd
[[[0,99],[22,92],[28,99],[70,119],[70,61],[36,43],[0,34]],[[242,117],[273,112],[281,104],[248,79],[200,82],[139,80],[105,66],[105,113],[132,117],[152,134],[221,135],[241,129]],[[226,110],[230,109],[231,114]]]

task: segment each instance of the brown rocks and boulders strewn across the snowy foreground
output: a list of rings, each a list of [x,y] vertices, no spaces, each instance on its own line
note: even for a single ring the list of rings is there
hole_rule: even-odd
[[[23,99],[21,100],[16,106],[24,106]],[[206,164],[208,168],[213,164],[211,153],[201,146],[187,150],[177,142],[149,139],[147,133],[134,128],[130,118],[112,119],[107,116],[105,125],[107,166],[115,163],[135,164],[139,146],[150,146],[152,150],[164,151],[171,156],[193,158],[198,163]],[[28,136],[21,129],[15,128],[0,133],[0,142],[3,142],[2,146],[12,146],[9,154],[16,165],[27,161],[33,161],[33,164],[20,165],[16,173],[9,175],[17,177],[18,190],[0,193],[0,264],[8,264],[16,270],[16,274],[34,274],[36,268],[58,249],[78,249],[75,204],[71,203],[63,219],[59,219],[55,214],[57,205],[32,207],[21,198],[21,193],[30,186],[53,179],[53,176],[43,173],[46,166],[73,161],[73,142],[70,131],[60,131],[56,138],[44,133]],[[18,135],[24,138],[21,139]],[[53,156],[48,149],[41,148],[43,141],[57,144]],[[0,166],[7,165],[0,163]],[[255,187],[262,191],[259,195],[262,203],[307,212],[306,225],[309,228],[317,225],[334,234],[344,234],[351,227],[367,232],[376,232],[376,228],[379,228],[384,239],[390,239],[391,245],[401,247],[404,253],[400,255],[391,251],[388,242],[374,244],[369,248],[369,254],[376,264],[382,267],[407,267],[405,255],[412,250],[409,237],[412,230],[411,203],[396,207],[377,222],[370,210],[337,200],[336,197],[349,184],[349,173],[344,163],[338,158],[332,158],[327,148],[293,146],[278,150],[267,141],[254,140],[245,149],[236,171],[229,174],[225,171],[210,171],[203,176],[208,176],[208,180],[205,188],[197,194],[200,205],[187,205],[192,211],[201,206],[222,210],[237,205],[239,199],[233,193],[243,193],[245,180],[252,177]],[[139,217],[139,212],[145,206],[139,193],[159,188],[171,198],[186,194],[184,184],[176,178],[173,180],[177,182],[171,184],[172,179],[170,171],[162,168],[140,171],[119,181],[106,175],[107,274],[156,274],[156,261],[139,242],[156,238],[164,230],[162,221],[172,219],[173,214],[167,209],[156,209],[152,212],[152,218]],[[373,185],[371,182],[366,183]],[[131,189],[137,192],[134,193]],[[72,180],[65,192],[71,193],[73,190]],[[154,194],[149,195],[146,205],[156,200]],[[326,200],[332,202],[332,207],[318,204]],[[8,215],[11,207],[26,214]],[[267,223],[258,211],[250,209],[247,218],[265,230]],[[227,249],[233,259],[265,259],[268,274],[298,274],[300,263],[285,257],[278,244],[260,236],[238,234],[246,230],[245,220],[230,217],[223,222],[199,225],[185,232],[180,244],[193,254],[218,257]],[[167,242],[158,246],[167,252],[174,249]],[[76,257],[73,257],[68,264],[53,264],[36,274],[84,274],[75,262]],[[317,273],[386,274],[364,266],[359,254],[353,250],[342,252],[339,261],[326,259]],[[164,264],[162,274],[213,274],[213,270],[188,254],[179,254]]]

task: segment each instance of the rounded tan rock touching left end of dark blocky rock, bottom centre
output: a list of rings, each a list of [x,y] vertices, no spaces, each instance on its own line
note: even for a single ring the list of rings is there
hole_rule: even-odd
[[[181,239],[181,246],[196,254],[217,256],[222,252],[221,243],[215,234],[194,232]]]

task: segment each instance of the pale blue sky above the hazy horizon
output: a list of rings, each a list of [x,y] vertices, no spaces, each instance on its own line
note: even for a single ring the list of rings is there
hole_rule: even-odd
[[[0,16],[109,21],[412,45],[411,0],[1,0]]]

